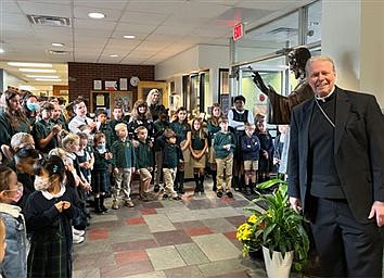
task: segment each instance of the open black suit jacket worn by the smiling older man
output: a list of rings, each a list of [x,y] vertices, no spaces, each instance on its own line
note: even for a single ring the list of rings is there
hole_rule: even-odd
[[[384,118],[375,98],[335,87],[334,160],[341,186],[356,219],[367,223],[374,201],[384,201]],[[309,125],[315,98],[291,116],[289,195],[307,213]]]

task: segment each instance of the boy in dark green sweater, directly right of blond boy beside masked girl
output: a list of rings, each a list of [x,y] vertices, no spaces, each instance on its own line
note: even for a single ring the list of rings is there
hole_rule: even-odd
[[[140,199],[144,202],[153,201],[154,195],[150,192],[151,172],[153,170],[152,143],[148,138],[148,129],[144,126],[139,126],[135,132],[139,143],[135,148],[135,157],[137,172],[140,174]]]

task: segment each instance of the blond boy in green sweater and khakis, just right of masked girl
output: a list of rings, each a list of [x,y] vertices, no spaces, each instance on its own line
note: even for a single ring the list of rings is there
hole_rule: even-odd
[[[115,126],[118,140],[114,141],[111,148],[112,168],[114,172],[113,203],[112,208],[118,210],[119,193],[123,192],[124,204],[133,207],[135,203],[130,198],[130,180],[135,172],[136,161],[131,140],[128,138],[127,125],[119,123]]]

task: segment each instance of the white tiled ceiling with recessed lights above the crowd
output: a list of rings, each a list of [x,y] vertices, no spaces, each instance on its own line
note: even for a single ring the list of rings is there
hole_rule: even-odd
[[[157,64],[195,45],[228,46],[232,27],[247,28],[308,0],[0,0],[0,67],[31,81],[7,62],[49,62],[67,84],[66,63]],[[102,20],[88,17],[101,12]],[[33,25],[27,15],[69,18],[71,27]],[[123,35],[135,35],[125,39]],[[65,43],[52,47],[52,42]],[[66,54],[50,54],[50,50]],[[112,58],[111,54],[118,56]]]

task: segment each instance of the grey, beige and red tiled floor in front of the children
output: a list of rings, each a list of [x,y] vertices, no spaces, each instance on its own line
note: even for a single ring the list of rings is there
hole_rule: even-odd
[[[74,277],[266,277],[263,262],[243,257],[235,239],[248,201],[218,199],[209,181],[206,194],[194,197],[193,185],[182,201],[133,200],[132,208],[94,215],[75,245]]]

